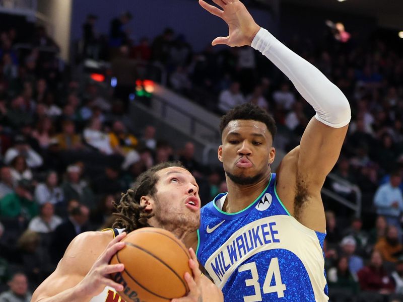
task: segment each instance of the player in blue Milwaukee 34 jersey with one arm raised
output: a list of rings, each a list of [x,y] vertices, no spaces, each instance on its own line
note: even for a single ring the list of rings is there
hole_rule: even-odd
[[[259,50],[316,115],[277,175],[270,167],[276,154],[273,118],[252,104],[223,116],[218,158],[228,193],[201,209],[197,257],[225,301],[327,301],[320,191],[340,155],[350,105],[317,68],[260,28],[239,0],[213,1],[220,8],[199,4],[228,24],[229,35],[212,44]]]

